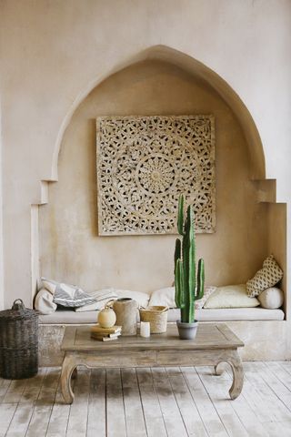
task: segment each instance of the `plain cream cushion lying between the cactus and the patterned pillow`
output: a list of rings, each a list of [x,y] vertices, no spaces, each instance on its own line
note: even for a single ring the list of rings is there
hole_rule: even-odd
[[[216,291],[206,300],[204,308],[251,308],[259,304],[256,298],[247,296],[246,284],[240,284],[217,287]]]

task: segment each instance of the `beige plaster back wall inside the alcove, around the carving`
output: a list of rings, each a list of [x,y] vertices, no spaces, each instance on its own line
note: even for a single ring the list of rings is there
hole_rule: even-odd
[[[216,118],[216,233],[196,236],[207,283],[246,282],[260,268],[267,254],[266,208],[256,203],[246,139],[236,117],[196,76],[145,61],[97,86],[66,129],[59,180],[50,184],[48,205],[40,207],[43,276],[85,290],[149,291],[172,283],[176,236],[98,237],[96,230],[95,117],[155,114]]]

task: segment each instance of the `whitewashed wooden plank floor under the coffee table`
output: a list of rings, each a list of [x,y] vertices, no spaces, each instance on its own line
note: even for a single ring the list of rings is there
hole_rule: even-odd
[[[291,437],[291,362],[245,362],[230,401],[231,374],[210,367],[80,369],[66,405],[60,369],[0,379],[0,437]]]

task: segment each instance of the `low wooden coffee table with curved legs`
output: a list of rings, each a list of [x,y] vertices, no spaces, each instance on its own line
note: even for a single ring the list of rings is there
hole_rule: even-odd
[[[168,325],[164,334],[120,337],[114,341],[97,341],[90,337],[90,326],[66,327],[62,351],[61,384],[66,403],[74,401],[71,377],[77,366],[94,367],[166,367],[217,366],[226,361],[233,371],[229,390],[236,399],[243,388],[244,371],[237,348],[244,346],[226,324],[200,323],[195,340],[179,340],[176,325]]]

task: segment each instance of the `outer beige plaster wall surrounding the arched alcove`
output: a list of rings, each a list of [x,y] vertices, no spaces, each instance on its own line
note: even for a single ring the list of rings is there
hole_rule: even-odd
[[[30,205],[41,202],[40,181],[57,178],[70,115],[95,84],[151,46],[196,58],[236,90],[289,215],[289,0],[2,0],[0,21],[5,307],[31,300]]]

